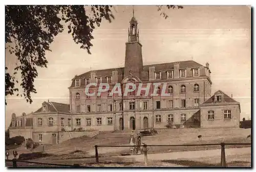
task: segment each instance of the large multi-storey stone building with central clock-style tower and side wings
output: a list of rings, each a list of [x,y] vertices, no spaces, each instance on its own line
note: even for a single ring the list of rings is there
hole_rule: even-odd
[[[217,91],[211,96],[209,63],[205,66],[189,61],[179,61],[143,66],[142,45],[139,41],[138,22],[135,17],[130,21],[129,39],[125,43],[125,65],[123,68],[96,70],[76,75],[69,87],[70,104],[44,102],[40,109],[30,114],[31,132],[34,140],[56,143],[56,133],[65,131],[141,130],[143,128],[166,128],[168,123],[185,127],[239,127],[240,103]],[[97,93],[100,83],[109,83],[110,90],[101,95],[86,95],[86,86],[90,93]],[[114,85],[120,83],[122,92],[127,83],[135,83],[137,89],[127,96],[110,95]],[[157,96],[137,95],[138,85],[147,87],[148,83],[157,85]],[[163,85],[167,84],[165,90]],[[151,84],[153,85],[153,84]],[[170,96],[161,96],[161,92]],[[13,116],[12,130],[18,125]],[[28,122],[26,122],[27,124]],[[25,126],[25,122],[22,123]],[[24,127],[23,126],[23,127]],[[48,137],[48,134],[49,137]],[[52,140],[51,140],[52,139]]]

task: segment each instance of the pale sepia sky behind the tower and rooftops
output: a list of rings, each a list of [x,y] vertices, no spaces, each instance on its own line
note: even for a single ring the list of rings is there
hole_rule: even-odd
[[[184,6],[165,9],[135,6],[143,65],[194,60],[209,63],[211,94],[222,90],[241,104],[241,120],[251,116],[251,11],[247,6]],[[103,20],[93,32],[92,54],[80,49],[66,29],[55,37],[52,52],[46,53],[48,68],[38,68],[33,102],[9,96],[6,125],[11,114],[31,113],[47,101],[69,103],[71,79],[90,70],[124,67],[125,42],[132,6],[115,6],[115,19]],[[6,52],[6,66],[14,68],[16,57]]]

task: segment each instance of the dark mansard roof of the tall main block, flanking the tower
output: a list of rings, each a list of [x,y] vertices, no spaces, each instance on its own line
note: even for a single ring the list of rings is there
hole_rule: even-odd
[[[169,63],[160,63],[160,64],[153,64],[153,65],[146,65],[143,66],[143,71],[141,72],[141,80],[142,81],[148,81],[148,69],[150,67],[155,67],[155,71],[161,71],[161,79],[167,79],[167,76],[164,75],[166,70],[173,70],[174,69],[174,64],[179,63],[180,69],[186,69],[186,68],[197,68],[201,67],[203,65],[200,65],[198,62],[193,61],[193,60],[188,60],[188,61],[177,61],[177,62],[169,62]],[[81,75],[75,76],[72,80],[71,87],[75,87],[75,79],[81,79],[80,80],[80,85],[83,86],[85,85],[86,81],[83,78],[90,78],[91,77],[91,72],[95,72],[96,76],[101,76],[102,77],[102,82],[106,83],[106,76],[112,75],[112,71],[117,70],[118,71],[118,82],[121,82],[123,79],[123,73],[124,73],[124,68],[112,68],[112,69],[103,69],[103,70],[96,70],[96,71],[89,71],[86,73],[83,73]]]

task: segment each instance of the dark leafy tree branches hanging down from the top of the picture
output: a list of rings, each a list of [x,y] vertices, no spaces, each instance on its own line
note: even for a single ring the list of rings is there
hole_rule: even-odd
[[[168,5],[167,9],[182,6]],[[91,54],[93,46],[91,40],[95,27],[99,27],[102,18],[111,23],[114,19],[112,6],[6,6],[5,7],[5,38],[6,50],[17,57],[14,73],[10,74],[5,68],[5,95],[13,95],[18,92],[16,84],[20,82],[24,97],[32,103],[31,93],[36,93],[34,79],[37,68],[47,68],[45,54],[51,51],[50,45],[54,37],[63,32],[63,24],[68,24],[68,33],[73,37],[81,49],[86,49]],[[164,18],[163,6],[157,6]],[[92,15],[90,15],[92,14]],[[17,72],[21,74],[21,81],[15,77]],[[7,102],[6,102],[7,104]]]

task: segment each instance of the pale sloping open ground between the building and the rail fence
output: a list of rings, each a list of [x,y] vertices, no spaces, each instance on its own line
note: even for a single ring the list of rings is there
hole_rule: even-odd
[[[158,131],[158,135],[142,137],[147,145],[157,144],[209,144],[209,143],[250,143],[247,139],[250,129],[225,128],[202,129],[182,128]],[[202,135],[202,140],[197,136]],[[46,147],[46,153],[53,156],[48,159],[79,159],[95,156],[94,145],[128,145],[130,133],[100,134],[96,139],[80,137],[70,139],[59,145]],[[248,147],[250,145],[226,145],[231,147]],[[148,147],[148,154],[163,152],[181,152],[189,150],[218,149],[217,146],[175,146],[175,147]],[[99,156],[117,156],[129,153],[129,147],[99,147]]]

